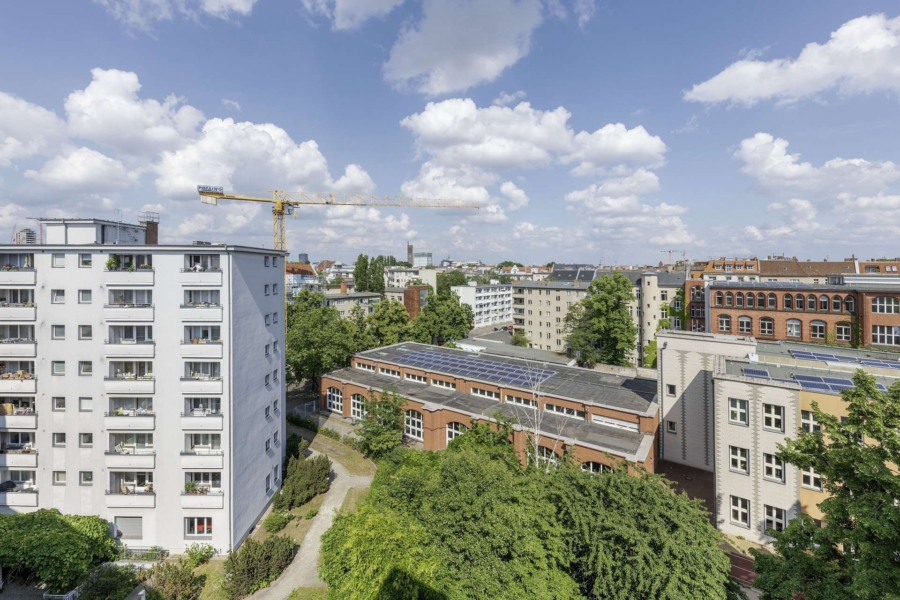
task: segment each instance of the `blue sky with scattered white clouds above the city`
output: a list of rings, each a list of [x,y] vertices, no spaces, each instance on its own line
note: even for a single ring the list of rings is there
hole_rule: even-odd
[[[271,245],[197,184],[452,197],[309,208],[291,252],[655,263],[900,254],[900,4],[6,3],[0,236],[161,214]]]

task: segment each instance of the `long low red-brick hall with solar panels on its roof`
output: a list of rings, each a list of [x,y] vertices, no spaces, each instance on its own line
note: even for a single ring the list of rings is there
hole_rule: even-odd
[[[523,460],[531,435],[538,460],[571,451],[592,472],[655,470],[650,379],[404,342],[355,355],[351,367],[323,375],[319,389],[321,410],[353,420],[370,392],[396,391],[406,398],[406,438],[426,450],[443,450],[499,410],[518,421],[513,442]]]

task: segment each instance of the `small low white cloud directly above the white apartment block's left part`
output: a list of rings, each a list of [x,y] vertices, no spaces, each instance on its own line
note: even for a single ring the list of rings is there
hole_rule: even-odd
[[[25,177],[58,190],[106,191],[137,183],[139,173],[128,172],[121,161],[90,148],[77,148],[66,156],[44,163],[39,171],[25,171]]]

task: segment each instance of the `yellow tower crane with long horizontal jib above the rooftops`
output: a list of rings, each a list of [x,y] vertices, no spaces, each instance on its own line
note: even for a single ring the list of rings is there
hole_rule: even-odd
[[[275,250],[287,250],[287,239],[284,232],[284,216],[294,214],[294,208],[302,205],[313,206],[400,206],[404,208],[475,208],[471,202],[461,200],[445,200],[443,198],[412,198],[409,196],[371,196],[363,194],[334,194],[316,192],[284,192],[270,190],[264,192],[270,196],[252,196],[246,194],[226,194],[219,186],[198,185],[197,193],[204,204],[218,204],[219,200],[241,200],[244,202],[266,202],[272,207],[272,233],[275,237]],[[262,193],[262,192],[261,192]]]

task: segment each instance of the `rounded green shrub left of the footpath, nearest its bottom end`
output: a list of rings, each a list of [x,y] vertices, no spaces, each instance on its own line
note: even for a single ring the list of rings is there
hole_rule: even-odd
[[[248,538],[225,560],[225,592],[238,600],[275,581],[294,558],[294,541],[276,535],[264,542]]]

